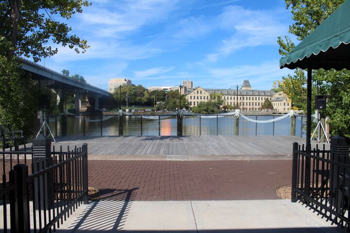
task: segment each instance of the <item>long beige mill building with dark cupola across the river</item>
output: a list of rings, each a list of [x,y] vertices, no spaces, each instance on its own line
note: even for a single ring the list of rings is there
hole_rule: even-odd
[[[187,89],[186,100],[190,103],[190,107],[197,106],[201,101],[209,101],[211,93],[219,93],[222,95],[224,105],[235,106],[238,100],[238,106],[243,111],[261,111],[263,102],[271,100],[275,94],[269,90],[253,90],[249,81],[245,80],[242,89],[204,89],[200,86]],[[238,98],[238,99],[237,99]]]

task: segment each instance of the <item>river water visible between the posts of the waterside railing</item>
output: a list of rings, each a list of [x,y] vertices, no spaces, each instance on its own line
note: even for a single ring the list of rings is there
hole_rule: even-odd
[[[75,116],[67,117],[67,135],[84,135],[84,120]],[[268,120],[273,116],[248,116],[252,119]],[[275,116],[278,117],[278,116]],[[101,135],[101,116],[85,116],[85,135]],[[91,122],[92,120],[93,122]],[[296,136],[304,136],[303,125],[306,117],[297,116],[296,118]],[[199,125],[199,123],[201,123]],[[234,117],[214,117],[205,118],[195,116],[184,116],[183,135],[234,135]],[[291,120],[289,117],[274,123],[254,123],[239,117],[239,135],[290,135]],[[62,118],[57,117],[57,134],[55,120],[49,120],[49,126],[53,135],[62,134]],[[102,121],[102,135],[119,135],[118,116],[113,116]],[[141,135],[141,117],[125,116],[124,135]],[[160,116],[160,122],[156,119],[142,119],[142,135],[176,135],[176,117]]]

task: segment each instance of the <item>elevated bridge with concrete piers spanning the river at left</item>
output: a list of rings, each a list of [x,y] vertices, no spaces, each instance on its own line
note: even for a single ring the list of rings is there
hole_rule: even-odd
[[[79,113],[81,101],[87,97],[90,105],[95,110],[99,108],[109,107],[114,99],[113,95],[108,91],[92,86],[90,84],[81,83],[70,79],[47,67],[38,65],[24,58],[18,58],[22,62],[22,68],[32,74],[32,78],[39,80],[40,85],[53,88],[58,98],[61,98],[62,91],[74,90],[75,92],[75,112]]]

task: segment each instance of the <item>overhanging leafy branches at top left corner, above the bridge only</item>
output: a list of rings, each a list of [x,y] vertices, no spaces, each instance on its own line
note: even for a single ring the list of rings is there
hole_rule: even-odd
[[[32,56],[37,62],[41,57],[58,52],[57,48],[52,47],[53,44],[85,52],[89,47],[87,41],[71,33],[72,29],[67,23],[55,18],[69,20],[89,5],[91,3],[86,0],[0,1],[0,32],[5,32],[6,40],[10,42],[5,49],[7,58],[14,55]]]

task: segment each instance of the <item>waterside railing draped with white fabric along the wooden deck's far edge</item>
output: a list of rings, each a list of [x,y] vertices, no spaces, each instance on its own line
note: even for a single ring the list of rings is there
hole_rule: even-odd
[[[213,114],[123,114],[48,116],[53,135],[116,136],[116,135],[296,135],[305,136],[306,117],[297,115],[270,123],[238,121],[232,115]],[[273,120],[281,115],[247,115],[253,120]],[[179,121],[179,122],[177,122]],[[182,126],[182,128],[181,128]],[[180,127],[180,128],[179,128]]]

